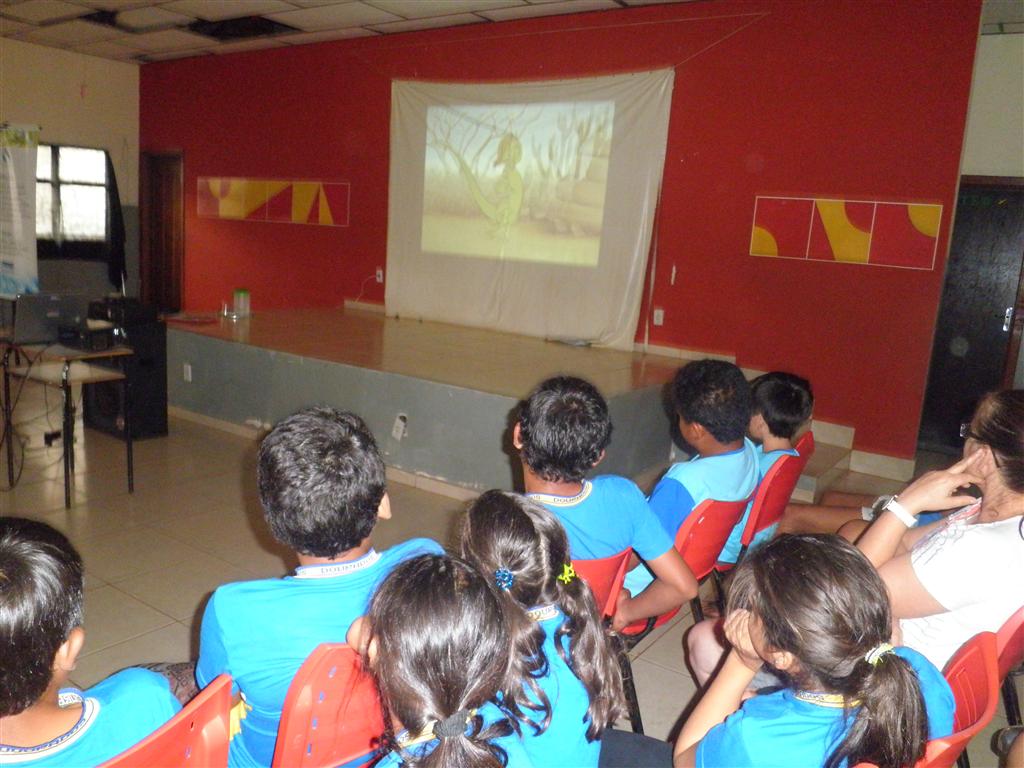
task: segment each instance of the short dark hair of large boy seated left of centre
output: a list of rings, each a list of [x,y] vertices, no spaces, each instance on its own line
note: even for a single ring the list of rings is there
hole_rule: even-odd
[[[263,438],[256,470],[263,514],[273,536],[315,557],[358,546],[377,522],[384,462],[355,414],[309,408]]]

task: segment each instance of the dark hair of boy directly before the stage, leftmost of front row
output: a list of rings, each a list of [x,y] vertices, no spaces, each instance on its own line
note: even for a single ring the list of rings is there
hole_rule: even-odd
[[[608,403],[588,381],[557,376],[519,403],[522,459],[539,477],[578,482],[611,441]]]

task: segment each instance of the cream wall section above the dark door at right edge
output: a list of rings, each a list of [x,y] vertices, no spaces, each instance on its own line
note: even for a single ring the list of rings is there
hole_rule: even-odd
[[[978,40],[961,172],[1024,177],[1024,35]]]

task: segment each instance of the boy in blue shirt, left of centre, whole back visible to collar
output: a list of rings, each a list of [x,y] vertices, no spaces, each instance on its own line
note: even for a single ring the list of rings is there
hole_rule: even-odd
[[[288,417],[261,443],[257,475],[267,524],[299,567],[224,585],[203,615],[196,680],[202,687],[226,672],[241,699],[231,766],[270,764],[285,696],[306,656],[345,641],[399,562],[442,552],[429,539],[373,548],[371,531],[391,516],[390,502],[377,443],[354,414],[311,408]]]

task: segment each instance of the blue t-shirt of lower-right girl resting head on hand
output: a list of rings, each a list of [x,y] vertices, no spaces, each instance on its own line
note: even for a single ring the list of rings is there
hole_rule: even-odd
[[[948,736],[953,730],[955,709],[949,684],[918,651],[901,647],[896,653],[918,674],[928,712],[928,737]],[[698,768],[822,766],[846,736],[851,722],[844,721],[841,707],[801,700],[792,689],[754,696],[700,739],[696,765]]]

